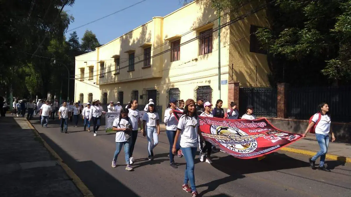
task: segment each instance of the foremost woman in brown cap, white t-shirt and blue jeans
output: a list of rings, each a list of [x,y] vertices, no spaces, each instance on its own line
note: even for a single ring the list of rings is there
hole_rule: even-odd
[[[194,175],[194,159],[197,151],[198,135],[200,136],[201,140],[204,140],[201,135],[199,117],[195,111],[195,102],[192,99],[188,99],[185,101],[184,113],[179,118],[177,134],[174,138],[172,152],[173,154],[176,154],[176,143],[178,141],[178,137],[180,136],[180,149],[183,151],[186,161],[186,170],[182,188],[188,193],[192,192],[193,197],[198,196]],[[191,189],[188,186],[189,181]]]

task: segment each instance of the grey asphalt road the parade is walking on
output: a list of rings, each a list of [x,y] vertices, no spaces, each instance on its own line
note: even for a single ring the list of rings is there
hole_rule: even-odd
[[[95,197],[191,196],[182,190],[185,159],[175,157],[178,169],[169,165],[169,144],[165,132],[159,135],[154,160],[148,161],[147,140],[139,134],[133,157],[134,171],[126,171],[124,152],[111,168],[115,151],[115,134],[93,133],[75,128],[71,123],[68,134],[60,133],[59,122],[50,121],[49,128],[41,128],[38,120],[31,121],[46,142],[78,175]],[[101,127],[104,129],[104,127]],[[316,144],[317,145],[317,144]],[[223,152],[212,156],[213,164],[202,163],[196,157],[195,177],[198,192],[203,196],[350,196],[351,165],[327,161],[332,172],[312,170],[308,157],[278,151],[265,159],[237,159]],[[319,161],[319,160],[318,160]],[[318,163],[318,162],[317,162]]]

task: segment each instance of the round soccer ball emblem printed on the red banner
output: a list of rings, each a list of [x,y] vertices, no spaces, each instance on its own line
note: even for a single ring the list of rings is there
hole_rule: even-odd
[[[211,134],[224,135],[224,136],[239,136],[239,137],[248,136],[244,131],[236,127],[231,128],[231,127],[224,127],[224,126],[217,126],[217,125],[211,125]],[[256,150],[257,148],[256,140],[251,140],[250,142],[246,142],[246,143],[245,143],[245,140],[231,140],[231,141],[217,140],[217,141],[225,148],[239,153],[250,153]]]

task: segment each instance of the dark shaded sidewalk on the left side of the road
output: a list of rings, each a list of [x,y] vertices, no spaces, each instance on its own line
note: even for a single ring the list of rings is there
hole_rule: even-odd
[[[0,119],[0,196],[82,197],[25,118]]]

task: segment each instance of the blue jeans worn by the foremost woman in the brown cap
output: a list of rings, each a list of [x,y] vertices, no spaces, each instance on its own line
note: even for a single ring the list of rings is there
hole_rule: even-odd
[[[197,147],[180,147],[183,151],[183,155],[186,161],[185,174],[184,174],[184,184],[188,184],[190,181],[190,187],[192,191],[196,191],[195,186],[195,175],[194,175],[194,159],[197,151]]]

